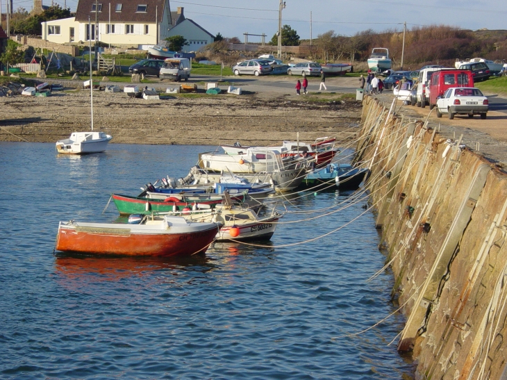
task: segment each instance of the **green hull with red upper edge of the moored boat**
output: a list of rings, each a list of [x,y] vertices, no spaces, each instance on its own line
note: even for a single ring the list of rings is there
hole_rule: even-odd
[[[113,194],[111,195],[115,206],[120,215],[143,214],[151,215],[151,213],[170,213],[176,210],[183,211],[183,208],[192,208],[194,203],[206,204],[213,208],[213,206],[222,203],[222,197],[208,197],[197,199],[188,199],[181,201],[163,201],[160,199],[148,199],[142,197],[128,197],[126,195]],[[238,197],[231,197],[233,201],[244,201],[246,196],[241,195]]]

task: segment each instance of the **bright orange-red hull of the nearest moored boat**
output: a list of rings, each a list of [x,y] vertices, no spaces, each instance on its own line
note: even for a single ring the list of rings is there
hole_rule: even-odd
[[[60,223],[56,249],[58,251],[121,256],[192,256],[204,253],[215,239],[217,226],[187,233],[146,231],[135,233],[128,225],[124,229],[92,229],[65,226]]]

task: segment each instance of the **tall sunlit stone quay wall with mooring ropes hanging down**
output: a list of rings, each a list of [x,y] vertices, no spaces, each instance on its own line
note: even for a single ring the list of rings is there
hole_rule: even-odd
[[[389,106],[388,106],[389,107]],[[507,342],[507,176],[460,141],[363,101],[356,160],[407,317],[398,349],[416,379],[502,378]]]

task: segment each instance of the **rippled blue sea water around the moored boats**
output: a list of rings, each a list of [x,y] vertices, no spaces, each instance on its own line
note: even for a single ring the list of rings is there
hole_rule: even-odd
[[[401,315],[360,333],[397,306],[390,272],[367,282],[385,256],[374,215],[350,193],[278,198],[288,213],[271,241],[215,243],[203,256],[53,253],[60,220],[113,222],[111,193],[137,195],[145,183],[185,176],[213,150],[110,144],[103,154],[62,156],[54,144],[0,143],[1,379],[413,373],[396,342],[388,345]]]

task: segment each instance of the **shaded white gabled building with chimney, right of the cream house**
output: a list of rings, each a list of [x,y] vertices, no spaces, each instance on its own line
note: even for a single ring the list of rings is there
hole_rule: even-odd
[[[191,19],[185,18],[183,15],[183,7],[178,7],[176,12],[176,22],[174,26],[169,30],[168,37],[173,35],[182,35],[187,40],[188,45],[183,47],[183,51],[197,51],[201,47],[211,44],[215,41],[215,36],[210,32],[206,31],[202,26],[193,22]]]

